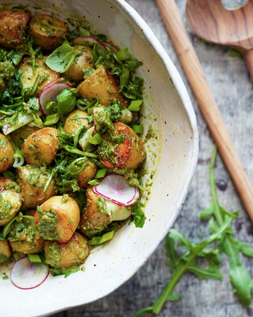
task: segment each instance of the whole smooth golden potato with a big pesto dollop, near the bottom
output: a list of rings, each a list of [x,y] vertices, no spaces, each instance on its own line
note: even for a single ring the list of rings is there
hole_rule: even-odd
[[[34,215],[40,235],[58,243],[69,241],[80,220],[77,202],[67,194],[49,198]]]

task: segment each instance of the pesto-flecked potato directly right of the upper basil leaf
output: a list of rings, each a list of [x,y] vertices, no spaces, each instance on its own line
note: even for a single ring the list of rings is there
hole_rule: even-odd
[[[82,68],[95,67],[92,59],[92,50],[89,46],[85,45],[74,45],[75,60],[72,66],[65,71],[65,76],[72,81],[79,82],[83,81]]]

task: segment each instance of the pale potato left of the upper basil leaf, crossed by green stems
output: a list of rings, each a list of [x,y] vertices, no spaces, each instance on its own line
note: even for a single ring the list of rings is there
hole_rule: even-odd
[[[24,88],[29,88],[34,85],[34,82],[37,78],[37,75],[41,76],[40,84],[35,96],[39,96],[43,87],[49,84],[51,81],[54,81],[60,78],[60,74],[56,73],[54,70],[49,68],[46,64],[47,56],[42,58],[35,57],[35,69],[33,73],[33,67],[31,65],[31,57],[25,57],[19,63],[18,70],[21,74],[21,81]]]

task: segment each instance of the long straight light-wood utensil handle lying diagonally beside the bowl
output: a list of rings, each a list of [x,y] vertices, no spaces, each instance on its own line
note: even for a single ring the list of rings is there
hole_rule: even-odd
[[[219,153],[253,222],[252,187],[207,84],[205,74],[183,25],[176,3],[174,0],[156,0],[156,3],[189,84],[218,146]]]

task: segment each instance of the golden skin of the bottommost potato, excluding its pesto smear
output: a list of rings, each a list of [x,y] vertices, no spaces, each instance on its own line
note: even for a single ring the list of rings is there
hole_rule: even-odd
[[[44,252],[47,260],[48,249],[47,247],[52,242],[46,241]],[[60,262],[57,265],[59,268],[69,268],[72,265],[80,265],[84,262],[90,253],[90,246],[80,233],[74,232],[70,240],[66,243],[59,244],[60,246]],[[47,261],[46,261],[47,262]],[[50,263],[48,263],[50,264]]]

